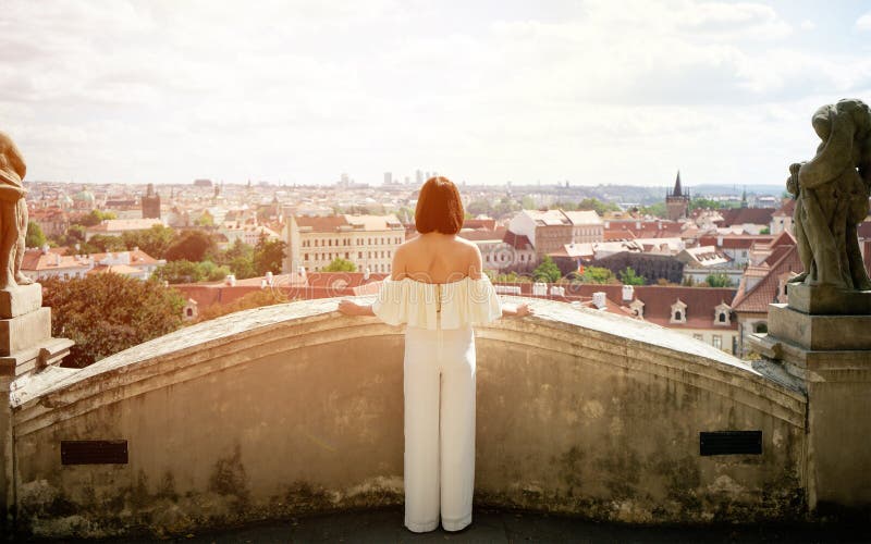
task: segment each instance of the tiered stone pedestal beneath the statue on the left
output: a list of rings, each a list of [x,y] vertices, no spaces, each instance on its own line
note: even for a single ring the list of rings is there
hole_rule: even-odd
[[[14,505],[12,485],[13,422],[9,405],[14,380],[59,364],[73,342],[51,337],[51,308],[42,308],[42,286],[0,290],[0,528]]]

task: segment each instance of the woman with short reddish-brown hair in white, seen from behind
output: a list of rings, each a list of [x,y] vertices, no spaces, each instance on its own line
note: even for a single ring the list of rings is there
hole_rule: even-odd
[[[471,523],[475,489],[475,334],[473,325],[531,313],[504,308],[481,273],[481,252],[461,237],[456,186],[433,177],[415,211],[419,236],[396,249],[390,279],[372,305],[339,310],[405,323],[405,527],[414,532]]]

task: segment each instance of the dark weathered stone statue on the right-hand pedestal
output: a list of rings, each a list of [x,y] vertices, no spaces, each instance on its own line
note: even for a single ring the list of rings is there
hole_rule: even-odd
[[[856,226],[868,215],[871,194],[871,110],[856,99],[813,114],[822,143],[808,162],[789,166],[787,190],[796,197],[794,224],[805,271],[792,283],[871,289]]]

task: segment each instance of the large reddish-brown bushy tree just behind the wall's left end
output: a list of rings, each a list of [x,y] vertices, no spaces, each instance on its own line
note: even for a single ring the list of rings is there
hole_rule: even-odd
[[[64,367],[87,367],[182,325],[184,299],[160,282],[105,273],[40,283],[51,334],[75,342]]]

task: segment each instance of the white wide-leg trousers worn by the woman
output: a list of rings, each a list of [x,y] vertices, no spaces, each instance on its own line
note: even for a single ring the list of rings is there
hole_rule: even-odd
[[[471,523],[475,334],[470,326],[405,331],[405,527]]]

